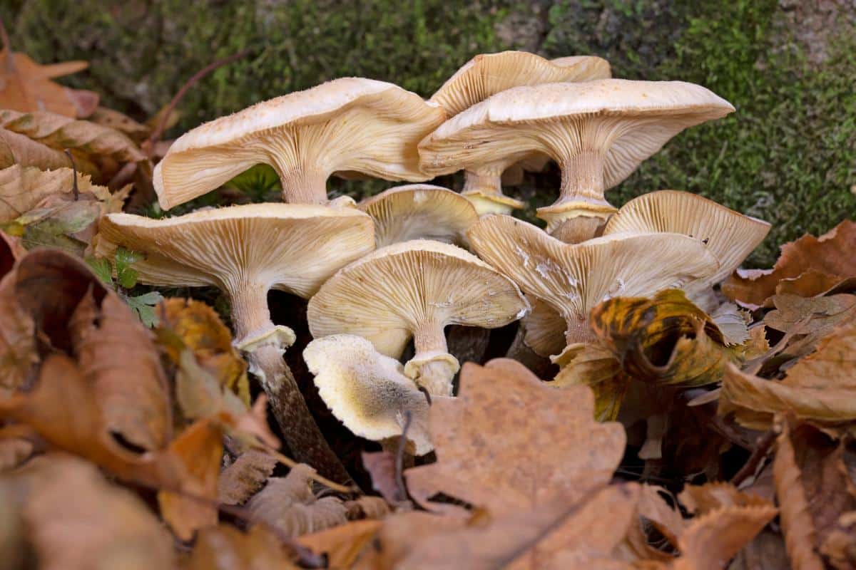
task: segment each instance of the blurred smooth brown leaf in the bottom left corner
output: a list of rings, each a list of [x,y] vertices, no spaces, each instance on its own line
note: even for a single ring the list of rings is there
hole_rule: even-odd
[[[146,504],[86,461],[45,455],[0,479],[5,485],[16,490],[40,568],[175,567],[172,539]]]

